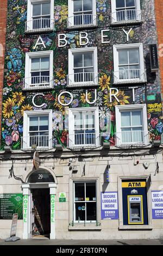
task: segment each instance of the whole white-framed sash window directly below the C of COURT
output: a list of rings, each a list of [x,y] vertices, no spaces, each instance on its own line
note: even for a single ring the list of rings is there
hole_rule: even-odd
[[[52,111],[24,111],[22,149],[53,148]]]

